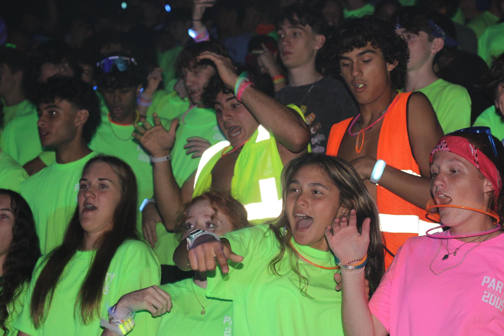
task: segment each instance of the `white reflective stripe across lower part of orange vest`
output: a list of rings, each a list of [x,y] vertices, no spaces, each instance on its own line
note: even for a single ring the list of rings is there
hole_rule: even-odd
[[[384,232],[392,233],[416,233],[419,236],[425,235],[425,231],[436,227],[436,223],[429,223],[418,219],[415,215],[388,215],[380,214],[380,228]],[[431,233],[441,232],[437,229]]]

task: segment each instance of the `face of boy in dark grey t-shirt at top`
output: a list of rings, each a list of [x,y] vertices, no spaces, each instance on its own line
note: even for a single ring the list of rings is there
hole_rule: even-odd
[[[324,45],[325,39],[317,39],[308,25],[292,25],[285,21],[278,30],[278,51],[280,59],[287,69],[314,62],[317,51]]]

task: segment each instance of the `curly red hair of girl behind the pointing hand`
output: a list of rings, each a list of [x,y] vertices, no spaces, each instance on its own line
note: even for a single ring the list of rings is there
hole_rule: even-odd
[[[226,216],[229,219],[233,225],[233,231],[250,226],[247,220],[247,211],[239,201],[224,192],[207,191],[184,204],[182,210],[178,213],[177,224],[175,225],[175,233],[178,240],[182,239],[182,234],[185,231],[184,226],[187,211],[193,204],[202,200],[208,201],[214,210],[214,214],[211,217],[212,220],[218,219],[218,214],[220,213],[221,216]]]

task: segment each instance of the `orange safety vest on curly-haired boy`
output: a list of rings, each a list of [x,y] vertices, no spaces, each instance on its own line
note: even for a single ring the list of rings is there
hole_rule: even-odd
[[[401,93],[397,103],[383,119],[376,159],[404,172],[420,176],[420,169],[411,152],[408,137],[406,110],[411,92]],[[343,135],[348,131],[352,118],[334,124],[327,144],[327,155],[337,156]],[[432,228],[424,209],[409,203],[381,185],[376,185],[376,205],[380,213],[380,226],[385,236],[387,249],[396,253],[406,239],[424,235]],[[385,253],[385,267],[392,262],[390,253]]]

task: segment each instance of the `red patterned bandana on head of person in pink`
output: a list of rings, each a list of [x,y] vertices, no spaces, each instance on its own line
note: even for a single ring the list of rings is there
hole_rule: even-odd
[[[471,145],[467,139],[456,136],[446,136],[439,139],[436,147],[430,152],[430,163],[432,163],[434,153],[439,151],[447,151],[460,155],[472,163],[492,183],[493,195],[495,198],[498,198],[500,188],[502,187],[502,179],[497,167],[483,152]]]

